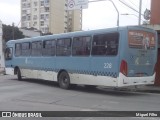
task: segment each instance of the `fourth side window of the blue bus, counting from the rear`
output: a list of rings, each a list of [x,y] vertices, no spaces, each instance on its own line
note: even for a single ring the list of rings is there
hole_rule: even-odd
[[[55,40],[47,40],[43,42],[43,56],[54,56],[55,55]]]

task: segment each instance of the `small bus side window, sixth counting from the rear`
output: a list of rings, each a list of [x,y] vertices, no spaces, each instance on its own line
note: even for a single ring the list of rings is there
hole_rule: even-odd
[[[30,55],[30,43],[22,43],[22,56]]]

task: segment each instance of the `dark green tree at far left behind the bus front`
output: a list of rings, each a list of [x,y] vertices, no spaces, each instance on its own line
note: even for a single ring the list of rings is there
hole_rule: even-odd
[[[13,40],[13,39],[17,40],[25,37],[18,27],[13,27],[10,25],[3,24],[2,29],[3,29],[3,39],[5,40],[5,42],[9,40]]]

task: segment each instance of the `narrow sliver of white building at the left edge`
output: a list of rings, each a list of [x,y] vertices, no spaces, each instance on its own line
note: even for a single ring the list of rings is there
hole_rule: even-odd
[[[5,63],[4,63],[4,48],[3,48],[3,40],[2,40],[2,22],[0,20],[0,74],[4,72]]]

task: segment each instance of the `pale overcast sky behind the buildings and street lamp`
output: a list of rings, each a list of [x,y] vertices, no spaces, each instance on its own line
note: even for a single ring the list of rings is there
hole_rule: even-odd
[[[119,0],[114,1],[119,11],[120,26],[138,25],[138,13],[126,7]],[[139,0],[122,0],[139,10]],[[142,13],[150,9],[150,0],[142,0]],[[122,15],[122,14],[130,15]],[[83,10],[83,30],[101,29],[115,27],[117,25],[117,12],[112,3],[108,0],[89,3],[88,8]],[[20,27],[20,0],[0,0],[0,20],[7,25]],[[142,18],[142,20],[144,20]],[[142,21],[143,22],[143,21]]]

